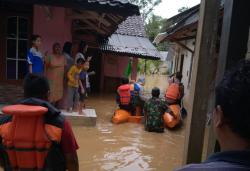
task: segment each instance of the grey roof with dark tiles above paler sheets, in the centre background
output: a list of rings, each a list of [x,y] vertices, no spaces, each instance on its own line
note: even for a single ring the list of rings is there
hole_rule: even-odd
[[[158,60],[159,51],[147,38],[144,24],[140,16],[128,17],[118,26],[117,31],[101,45],[106,52],[121,55]]]

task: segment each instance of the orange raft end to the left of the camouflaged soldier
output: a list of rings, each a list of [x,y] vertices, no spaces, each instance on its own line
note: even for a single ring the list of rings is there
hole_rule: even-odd
[[[141,113],[139,111],[140,109],[137,108],[136,116],[132,116],[131,113],[126,110],[117,109],[112,118],[112,122],[114,124],[120,124],[125,122],[141,123],[143,116],[141,116]]]

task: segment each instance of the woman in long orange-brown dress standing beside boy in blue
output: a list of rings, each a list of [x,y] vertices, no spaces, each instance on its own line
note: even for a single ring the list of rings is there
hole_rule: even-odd
[[[53,45],[53,54],[45,58],[45,64],[50,84],[50,102],[57,106],[63,97],[64,70],[67,65],[59,43]]]

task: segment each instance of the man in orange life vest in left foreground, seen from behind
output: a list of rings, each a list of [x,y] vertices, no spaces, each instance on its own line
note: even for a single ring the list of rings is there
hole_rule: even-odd
[[[24,97],[3,108],[0,118],[0,164],[4,170],[79,171],[78,145],[71,125],[48,103],[49,83],[29,74]]]

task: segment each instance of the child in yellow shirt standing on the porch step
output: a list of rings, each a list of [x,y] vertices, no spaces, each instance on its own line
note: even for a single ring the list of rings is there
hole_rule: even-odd
[[[68,112],[78,110],[79,93],[78,89],[80,87],[80,73],[84,65],[84,59],[79,58],[74,64],[67,76],[68,76]],[[81,91],[84,91],[81,89]]]

